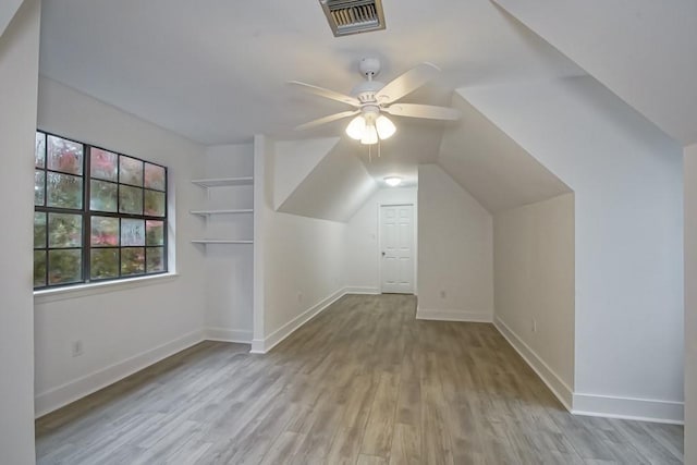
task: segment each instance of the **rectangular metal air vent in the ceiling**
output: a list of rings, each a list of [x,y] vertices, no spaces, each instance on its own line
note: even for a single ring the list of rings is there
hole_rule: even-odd
[[[334,37],[384,29],[382,0],[320,0]]]

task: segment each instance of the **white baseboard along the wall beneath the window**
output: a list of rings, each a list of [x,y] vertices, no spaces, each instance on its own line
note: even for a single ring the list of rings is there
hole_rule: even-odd
[[[34,399],[35,416],[38,418],[75,402],[201,341],[204,341],[204,332],[192,331],[125,360],[41,392]]]

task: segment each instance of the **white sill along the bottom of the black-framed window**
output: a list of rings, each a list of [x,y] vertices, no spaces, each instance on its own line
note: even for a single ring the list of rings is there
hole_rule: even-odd
[[[155,274],[151,277],[129,278],[118,281],[93,282],[64,287],[34,291],[34,304],[47,304],[56,301],[87,297],[90,295],[106,294],[147,285],[163,284],[179,278],[178,273]]]

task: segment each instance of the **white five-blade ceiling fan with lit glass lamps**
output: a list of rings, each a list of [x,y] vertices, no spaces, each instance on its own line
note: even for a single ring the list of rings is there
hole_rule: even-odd
[[[394,117],[425,118],[430,120],[458,120],[460,111],[453,108],[435,107],[431,105],[396,103],[399,99],[416,90],[418,87],[433,78],[440,69],[431,63],[421,63],[411,69],[388,84],[374,78],[380,73],[380,60],[377,58],[364,58],[359,64],[360,74],[366,81],[353,88],[351,95],[337,93],[323,87],[299,81],[290,81],[289,84],[302,87],[320,97],[341,101],[355,108],[355,110],[342,111],[319,118],[295,127],[296,131],[316,127],[321,124],[343,118],[355,117],[348,126],[346,134],[362,144],[377,144],[394,134],[396,127],[383,113]]]

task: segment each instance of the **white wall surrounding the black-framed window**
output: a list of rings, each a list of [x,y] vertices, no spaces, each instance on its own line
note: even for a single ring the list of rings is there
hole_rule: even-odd
[[[201,178],[205,163],[203,147],[46,78],[39,82],[38,126],[169,168],[170,258],[178,273],[136,287],[120,283],[35,297],[40,415],[201,339],[204,253],[189,243],[201,224],[188,210],[204,200],[191,179]],[[80,357],[71,356],[75,340],[83,341]]]

